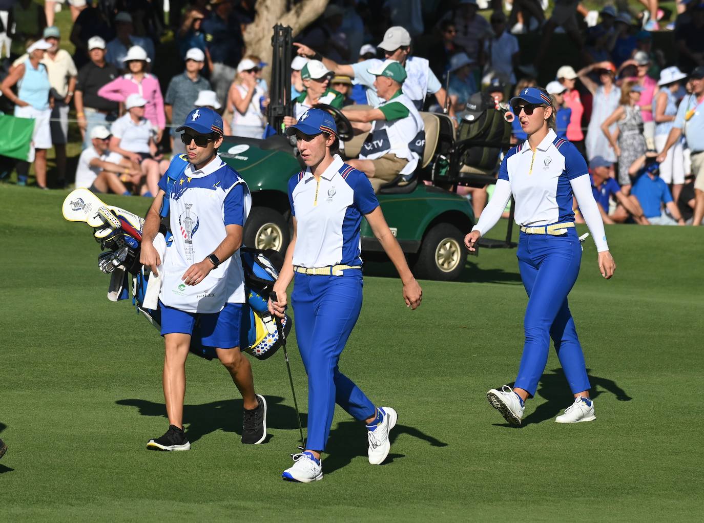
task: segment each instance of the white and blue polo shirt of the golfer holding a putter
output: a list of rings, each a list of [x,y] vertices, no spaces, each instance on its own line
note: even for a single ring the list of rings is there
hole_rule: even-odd
[[[289,202],[297,222],[294,265],[362,264],[362,216],[379,206],[363,172],[336,154],[319,182],[310,168],[289,179]]]

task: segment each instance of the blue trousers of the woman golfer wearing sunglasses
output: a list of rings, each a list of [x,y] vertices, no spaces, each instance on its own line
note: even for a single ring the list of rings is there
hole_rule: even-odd
[[[567,231],[564,236],[522,232],[518,242],[518,267],[528,293],[528,306],[523,320],[523,355],[514,386],[528,391],[531,397],[548,363],[551,338],[572,393],[591,388],[582,346],[567,306],[567,294],[579,275],[582,248],[577,231]]]

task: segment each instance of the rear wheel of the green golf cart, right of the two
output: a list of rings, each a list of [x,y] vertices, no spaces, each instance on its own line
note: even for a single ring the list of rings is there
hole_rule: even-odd
[[[415,275],[425,279],[450,281],[457,279],[465,268],[467,251],[460,229],[449,223],[439,223],[430,229],[418,251],[413,267]]]

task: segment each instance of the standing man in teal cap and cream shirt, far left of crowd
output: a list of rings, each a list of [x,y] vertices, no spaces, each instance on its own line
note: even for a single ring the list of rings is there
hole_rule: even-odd
[[[44,29],[44,39],[51,44],[51,47],[46,49],[46,54],[42,59],[42,63],[46,66],[46,73],[49,75],[51,97],[54,99],[54,107],[51,108],[51,120],[49,122],[51,144],[54,145],[54,153],[56,154],[57,184],[58,187],[63,187],[66,177],[68,106],[73,100],[78,72],[68,51],[58,48],[59,39],[61,39],[58,27],[46,27]],[[27,58],[27,54],[20,56],[13,63],[13,67],[24,63]]]

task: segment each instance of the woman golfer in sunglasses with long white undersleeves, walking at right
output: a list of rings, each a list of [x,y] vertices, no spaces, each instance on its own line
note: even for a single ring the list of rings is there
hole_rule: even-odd
[[[535,394],[552,338],[574,394],[574,403],[555,421],[591,421],[596,418],[584,355],[567,306],[567,294],[577,280],[582,258],[574,229],[573,195],[596,243],[601,275],[612,277],[616,264],[606,244],[584,158],[553,131],[555,109],[550,96],[544,89],[529,87],[511,99],[511,106],[528,139],[508,151],[498,172],[494,198],[465,237],[465,245],[474,251],[474,244],[496,224],[513,193],[515,220],[521,227],[518,267],[529,297],[525,342],[513,389],[506,385],[501,391],[491,389],[486,397],[506,421],[520,425],[524,401]]]

